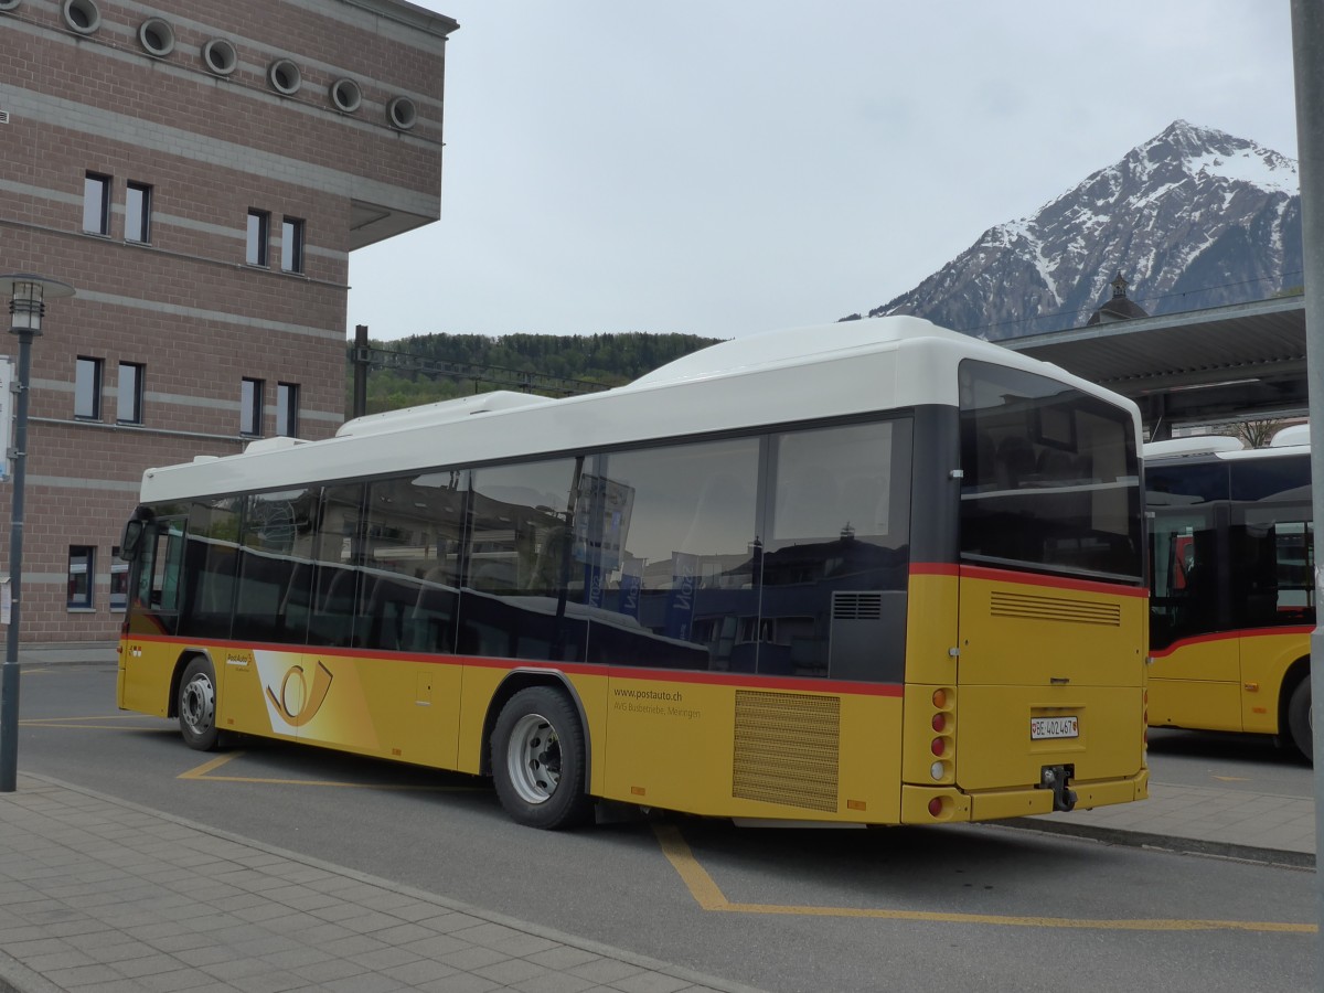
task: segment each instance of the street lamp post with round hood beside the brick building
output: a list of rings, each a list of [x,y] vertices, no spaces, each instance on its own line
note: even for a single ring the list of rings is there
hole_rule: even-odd
[[[73,297],[74,287],[32,273],[0,275],[9,297],[9,334],[19,336],[17,402],[13,429],[13,493],[9,510],[9,630],[0,665],[0,793],[13,793],[19,780],[19,608],[23,602],[23,486],[28,462],[28,380],[32,339],[41,334],[45,301]]]

